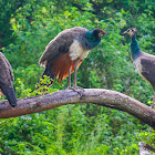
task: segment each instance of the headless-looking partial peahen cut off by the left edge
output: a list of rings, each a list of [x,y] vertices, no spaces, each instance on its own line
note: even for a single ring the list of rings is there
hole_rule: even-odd
[[[6,56],[0,52],[0,89],[7,96],[7,100],[12,107],[17,106],[17,95],[13,90],[13,80],[14,76],[12,68]]]

